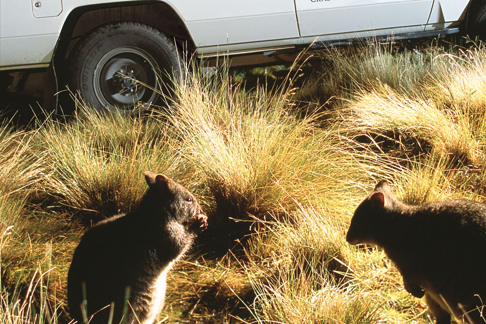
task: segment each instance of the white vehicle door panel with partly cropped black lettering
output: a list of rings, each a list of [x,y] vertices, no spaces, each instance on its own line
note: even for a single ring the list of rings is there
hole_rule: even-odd
[[[300,35],[421,26],[424,30],[433,0],[295,0]],[[341,37],[342,38],[342,37]]]

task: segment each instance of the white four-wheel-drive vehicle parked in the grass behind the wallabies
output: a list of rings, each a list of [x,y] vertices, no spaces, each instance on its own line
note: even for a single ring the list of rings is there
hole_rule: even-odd
[[[128,112],[157,101],[183,53],[265,63],[313,42],[458,32],[484,38],[486,0],[0,0],[0,70],[11,90],[42,68],[48,93]]]

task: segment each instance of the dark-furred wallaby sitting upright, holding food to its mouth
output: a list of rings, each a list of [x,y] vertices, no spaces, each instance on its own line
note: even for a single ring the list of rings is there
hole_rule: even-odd
[[[207,226],[182,185],[152,172],[145,180],[149,188],[137,208],[90,228],[74,251],[68,303],[79,323],[85,307],[90,324],[108,323],[110,304],[114,324],[153,322],[164,303],[167,272]]]

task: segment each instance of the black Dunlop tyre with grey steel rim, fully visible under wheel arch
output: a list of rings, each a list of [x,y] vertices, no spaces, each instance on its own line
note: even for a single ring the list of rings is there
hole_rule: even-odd
[[[100,112],[132,115],[159,105],[160,93],[170,96],[173,76],[183,72],[174,38],[133,21],[91,30],[71,50],[68,64],[71,92]]]

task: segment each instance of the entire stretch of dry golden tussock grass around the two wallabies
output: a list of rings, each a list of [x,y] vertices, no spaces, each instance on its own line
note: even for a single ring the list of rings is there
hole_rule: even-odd
[[[169,276],[161,322],[430,323],[384,253],[349,246],[345,232],[380,179],[408,203],[486,201],[485,52],[354,51],[334,57],[326,92],[340,99],[328,114],[299,111],[291,80],[249,91],[222,68],[188,73],[170,111],[146,118],[85,111],[31,132],[4,127],[0,322],[67,322],[80,233],[128,211],[152,170],[210,215]],[[37,269],[50,271],[38,281]]]

